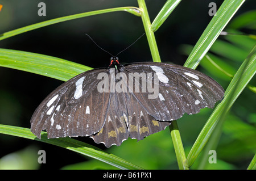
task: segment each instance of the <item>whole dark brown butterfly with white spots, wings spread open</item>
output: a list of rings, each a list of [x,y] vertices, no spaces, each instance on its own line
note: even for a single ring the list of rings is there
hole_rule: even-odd
[[[162,131],[184,113],[213,108],[223,96],[224,89],[199,71],[158,62],[121,65],[112,57],[108,68],[85,71],[51,92],[34,112],[31,132],[119,146]]]

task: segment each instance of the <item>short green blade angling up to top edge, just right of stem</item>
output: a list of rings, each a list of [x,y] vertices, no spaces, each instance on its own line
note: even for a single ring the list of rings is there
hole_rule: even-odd
[[[158,30],[158,28],[164,23],[164,21],[168,18],[171,12],[174,11],[175,7],[179,5],[180,1],[181,0],[168,0],[164,4],[151,25],[151,31],[155,32],[156,30]]]

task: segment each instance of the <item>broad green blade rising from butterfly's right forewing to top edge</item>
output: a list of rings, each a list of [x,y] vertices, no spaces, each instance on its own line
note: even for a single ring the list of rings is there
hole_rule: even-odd
[[[222,3],[220,9],[216,12],[216,16],[213,16],[199,41],[197,41],[192,52],[189,54],[184,66],[195,69],[197,65],[199,65],[201,59],[208,52],[218,35],[220,35],[221,31],[225,28],[226,24],[228,24],[229,20],[237,12],[243,2],[245,2],[245,0],[225,0]],[[195,60],[196,64],[193,63]]]

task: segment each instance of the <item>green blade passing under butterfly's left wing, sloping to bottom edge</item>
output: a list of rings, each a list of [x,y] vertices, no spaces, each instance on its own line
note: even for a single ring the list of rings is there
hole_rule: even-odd
[[[99,161],[108,163],[109,165],[113,165],[118,169],[142,169],[141,167],[136,166],[133,163],[127,162],[124,159],[119,158],[113,154],[106,153],[105,151],[100,150],[92,145],[85,144],[84,142],[69,137],[48,139],[47,133],[42,132],[41,140],[39,140],[34,134],[31,133],[30,129],[28,128],[20,128],[2,124],[0,124],[0,133],[28,138],[30,140],[42,141],[48,144],[60,146],[62,148],[66,148],[68,150],[72,150],[77,153],[86,155],[90,158],[98,159]]]

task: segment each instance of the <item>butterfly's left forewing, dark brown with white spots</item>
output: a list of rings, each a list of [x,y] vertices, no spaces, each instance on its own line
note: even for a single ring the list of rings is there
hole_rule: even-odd
[[[48,138],[90,136],[99,132],[106,120],[110,94],[97,91],[100,82],[97,76],[107,71],[89,70],[57,87],[34,112],[31,132],[39,138],[44,129]]]

